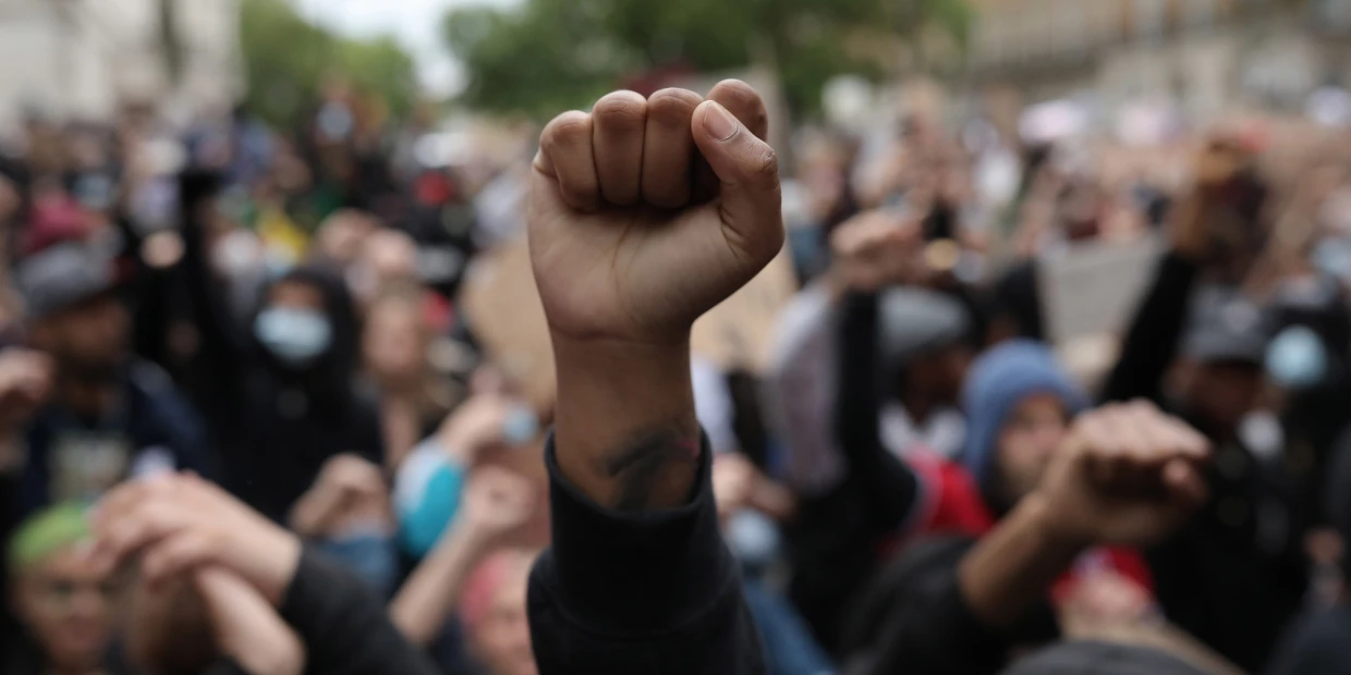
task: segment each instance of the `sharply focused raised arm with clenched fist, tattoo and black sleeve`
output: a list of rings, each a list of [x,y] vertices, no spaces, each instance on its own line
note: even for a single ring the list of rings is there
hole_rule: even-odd
[[[540,139],[530,246],[558,369],[554,547],[530,602],[544,674],[763,672],[717,535],[689,331],[780,252],[778,165],[750,86],[708,99],[616,92]]]

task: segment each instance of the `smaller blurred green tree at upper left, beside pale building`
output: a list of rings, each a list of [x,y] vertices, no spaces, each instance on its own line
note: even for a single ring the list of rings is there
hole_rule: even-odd
[[[273,124],[295,123],[334,76],[381,99],[396,115],[408,113],[417,99],[413,59],[393,38],[334,35],[285,0],[243,0],[239,35],[249,107]]]

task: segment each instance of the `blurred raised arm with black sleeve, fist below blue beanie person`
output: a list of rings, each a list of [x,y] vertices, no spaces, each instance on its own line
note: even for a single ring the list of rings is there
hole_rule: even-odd
[[[1042,485],[955,568],[916,575],[851,675],[998,671],[1052,582],[1094,545],[1144,547],[1205,501],[1205,439],[1152,405],[1084,414]]]

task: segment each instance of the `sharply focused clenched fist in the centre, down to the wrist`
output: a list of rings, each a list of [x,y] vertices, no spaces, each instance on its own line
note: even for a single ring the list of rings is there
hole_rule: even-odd
[[[530,213],[555,340],[676,343],[784,244],[767,113],[744,82],[615,92],[540,136]]]

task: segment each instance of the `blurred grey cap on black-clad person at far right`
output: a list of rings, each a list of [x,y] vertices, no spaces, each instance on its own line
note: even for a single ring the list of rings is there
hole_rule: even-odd
[[[1208,286],[1192,298],[1182,354],[1202,363],[1262,364],[1271,340],[1269,316],[1238,289]]]

